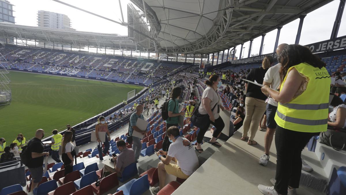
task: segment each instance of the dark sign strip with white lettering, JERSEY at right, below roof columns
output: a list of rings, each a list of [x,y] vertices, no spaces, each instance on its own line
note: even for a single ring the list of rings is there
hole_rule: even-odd
[[[341,37],[337,37],[335,39],[330,39],[330,40],[326,40],[326,41],[312,43],[312,44],[308,44],[305,46],[309,47],[309,49],[311,50],[312,53],[343,49],[343,48],[346,48],[346,36],[341,36]],[[274,59],[277,58],[276,53],[268,53],[268,54],[264,54],[261,56],[254,56],[254,57],[244,58],[244,59],[240,59],[240,60],[233,60],[231,62],[233,64],[257,62],[257,61],[262,61],[265,56],[272,56]]]

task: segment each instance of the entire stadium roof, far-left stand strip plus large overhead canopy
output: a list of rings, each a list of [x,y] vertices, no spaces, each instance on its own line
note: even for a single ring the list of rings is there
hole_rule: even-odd
[[[131,0],[146,16],[161,48],[127,36],[0,23],[0,36],[64,45],[208,54],[245,43],[333,0]],[[295,32],[293,32],[295,33]],[[154,38],[155,37],[155,38]],[[153,45],[153,44],[151,44]]]

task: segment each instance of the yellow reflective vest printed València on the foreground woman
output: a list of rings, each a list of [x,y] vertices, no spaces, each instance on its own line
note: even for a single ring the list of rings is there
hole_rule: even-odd
[[[307,63],[291,67],[309,78],[306,90],[290,102],[279,105],[275,114],[277,125],[297,131],[317,133],[327,130],[330,75],[326,68],[315,68]],[[287,74],[281,84],[285,84]]]

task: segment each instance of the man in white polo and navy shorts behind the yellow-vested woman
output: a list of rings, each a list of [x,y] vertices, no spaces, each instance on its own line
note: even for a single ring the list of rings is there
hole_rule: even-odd
[[[276,48],[276,54],[279,56],[279,53],[287,46],[288,44],[282,43]],[[264,79],[263,79],[263,85],[267,85],[270,88],[277,90],[279,88],[279,85],[281,83],[280,78],[280,71],[281,64],[277,63],[276,65],[270,67],[267,72],[265,73]],[[262,164],[263,166],[266,166],[269,161],[269,150],[270,146],[272,145],[275,129],[276,129],[276,122],[274,120],[275,112],[277,109],[277,102],[269,98],[267,102],[267,132],[264,136],[264,154],[261,156],[260,161],[258,163]]]

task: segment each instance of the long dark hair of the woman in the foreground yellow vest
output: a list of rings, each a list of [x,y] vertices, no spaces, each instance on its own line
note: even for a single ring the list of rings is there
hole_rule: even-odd
[[[308,63],[316,68],[326,66],[326,63],[313,55],[309,48],[297,44],[285,46],[285,48],[279,53],[277,59],[282,65],[280,69],[281,81],[285,78],[289,68],[300,63]]]

